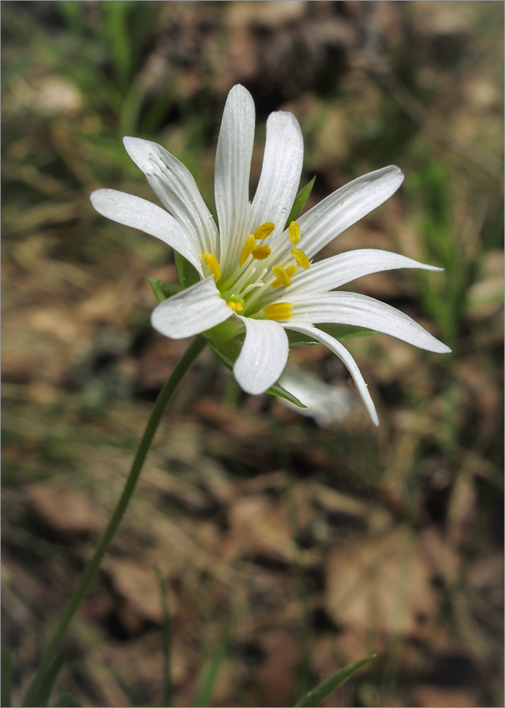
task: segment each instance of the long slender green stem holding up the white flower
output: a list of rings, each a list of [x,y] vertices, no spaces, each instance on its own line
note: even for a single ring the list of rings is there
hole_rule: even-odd
[[[86,570],[84,571],[83,576],[81,578],[81,582],[79,583],[79,586],[77,586],[74,595],[72,595],[69,605],[66,607],[64,615],[61,621],[59,622],[57,630],[56,632],[54,632],[54,635],[52,636],[52,639],[47,645],[47,649],[44,655],[42,656],[42,661],[40,662],[40,665],[37,668],[37,672],[35,673],[33,682],[31,683],[30,688],[28,689],[28,692],[25,696],[25,700],[23,702],[23,706],[26,708],[37,706],[37,695],[40,690],[40,687],[42,687],[42,684],[44,683],[45,674],[47,672],[47,669],[50,667],[54,653],[57,651],[59,644],[61,643],[66,633],[66,630],[69,628],[69,624],[72,618],[74,617],[77,608],[81,604],[84,595],[86,595],[86,592],[88,591],[88,587],[93,579],[93,576],[98,570],[98,566],[100,566],[103,556],[107,552],[107,549],[110,546],[112,539],[114,538],[115,532],[117,531],[117,527],[119,527],[121,520],[124,516],[124,512],[128,508],[129,502],[134,493],[135,486],[137,486],[137,481],[139,481],[141,469],[144,466],[147,453],[149,452],[149,447],[151,447],[151,442],[153,441],[154,434],[156,433],[156,429],[158,428],[158,425],[161,421],[161,416],[163,416],[163,412],[166,409],[168,401],[170,401],[170,398],[172,397],[172,394],[175,389],[178,387],[180,380],[185,375],[189,367],[192,365],[192,362],[195,361],[195,359],[202,351],[206,343],[207,340],[205,340],[203,337],[197,337],[194,341],[192,341],[190,346],[182,355],[180,362],[173,370],[170,379],[168,379],[161,393],[159,394],[158,399],[156,400],[153,412],[151,413],[151,417],[149,418],[149,421],[146,425],[146,429],[144,430],[144,435],[142,435],[141,441],[139,443],[137,454],[135,455],[132,464],[132,469],[129,472],[128,479],[126,481],[126,484],[124,485],[124,489],[120,496],[120,500],[117,502],[117,506],[114,510],[114,513],[112,514],[112,518],[108,523],[108,527],[103,532],[103,536],[101,537],[100,542],[96,547],[95,553],[93,554],[93,558],[91,559]]]

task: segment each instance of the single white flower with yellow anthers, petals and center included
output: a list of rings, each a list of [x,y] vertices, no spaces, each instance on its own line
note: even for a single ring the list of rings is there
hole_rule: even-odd
[[[314,264],[312,259],[335,236],[388,199],[402,183],[402,172],[390,166],[360,177],[285,228],[301,176],[301,130],[291,113],[269,116],[260,182],[250,202],[254,129],[253,98],[243,86],[234,86],[226,101],[216,150],[219,228],[185,166],[160,145],[134,137],[125,137],[124,147],[170,213],[109,189],[93,192],[93,206],[105,217],[156,236],[195,267],[199,280],[153,311],[155,329],[177,339],[228,321],[233,336],[245,331],[233,374],[250,394],[265,392],[283,372],[289,354],[286,330],[317,340],[347,366],[368,413],[378,424],[356,362],[320,326],[354,325],[429,351],[450,350],[397,309],[335,288],[380,270],[441,269],[376,249],[341,253]]]

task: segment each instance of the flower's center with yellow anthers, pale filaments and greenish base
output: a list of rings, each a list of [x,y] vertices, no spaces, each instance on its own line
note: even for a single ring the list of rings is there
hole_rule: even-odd
[[[238,258],[238,265],[230,277],[221,276],[221,267],[214,253],[204,253],[204,269],[209,275],[214,275],[216,286],[228,307],[236,313],[245,316],[255,316],[265,319],[285,320],[293,314],[290,302],[276,302],[277,293],[272,292],[279,287],[291,287],[291,278],[301,268],[310,268],[306,253],[296,246],[300,241],[301,232],[298,222],[291,222],[287,236],[293,247],[290,250],[291,261],[287,263],[272,263],[272,249],[264,241],[275,229],[272,222],[261,224],[253,234],[245,239]],[[263,241],[263,243],[257,243]],[[257,261],[267,261],[261,268]],[[272,302],[273,300],[273,302]]]

